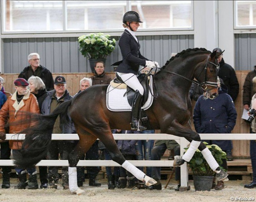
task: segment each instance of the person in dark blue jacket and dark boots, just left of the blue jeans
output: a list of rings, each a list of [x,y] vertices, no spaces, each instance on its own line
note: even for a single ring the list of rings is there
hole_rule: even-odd
[[[137,133],[134,130],[121,130],[120,133],[122,134],[130,134],[130,133]],[[118,140],[117,147],[123,154],[126,160],[136,160],[136,149],[135,144],[137,140]],[[132,175],[132,173],[126,171],[123,167],[120,167],[120,185],[118,188],[133,188],[135,186],[137,178]]]

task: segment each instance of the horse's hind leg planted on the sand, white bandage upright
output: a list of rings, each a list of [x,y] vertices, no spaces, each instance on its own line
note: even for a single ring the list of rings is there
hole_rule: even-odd
[[[74,150],[69,154],[69,190],[71,193],[81,195],[84,191],[77,185],[76,165],[79,159],[85,154],[96,141],[96,138],[90,136],[79,136],[80,140]],[[86,140],[85,140],[86,139]]]

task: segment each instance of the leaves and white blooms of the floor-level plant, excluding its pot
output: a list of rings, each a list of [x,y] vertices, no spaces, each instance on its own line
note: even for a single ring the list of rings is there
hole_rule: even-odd
[[[211,154],[217,161],[219,165],[222,165],[222,160],[226,159],[226,152],[222,151],[222,149],[217,145],[208,145],[208,143],[204,142],[206,147],[211,151]],[[184,148],[186,151],[189,147]],[[194,156],[188,162],[189,167],[191,168],[194,175],[199,176],[213,176],[215,172],[210,168],[202,153],[197,149],[195,151]]]

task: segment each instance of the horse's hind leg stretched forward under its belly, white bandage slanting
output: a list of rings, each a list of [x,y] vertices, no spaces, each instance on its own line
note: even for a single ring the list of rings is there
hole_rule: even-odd
[[[102,143],[105,145],[106,149],[108,149],[109,154],[111,155],[111,159],[120,165],[124,169],[126,169],[128,172],[132,173],[138,180],[144,181],[147,186],[156,184],[156,181],[149,176],[147,176],[145,173],[143,173],[141,170],[139,170],[137,167],[132,165],[132,163],[125,160],[122,153],[119,151],[117,144],[113,138],[112,132],[109,129],[109,134],[104,134],[99,136]]]

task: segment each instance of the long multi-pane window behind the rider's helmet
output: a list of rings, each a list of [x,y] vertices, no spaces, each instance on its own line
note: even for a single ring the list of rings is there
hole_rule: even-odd
[[[193,1],[1,0],[2,34],[106,31],[122,28],[131,8],[143,31],[193,29]]]

